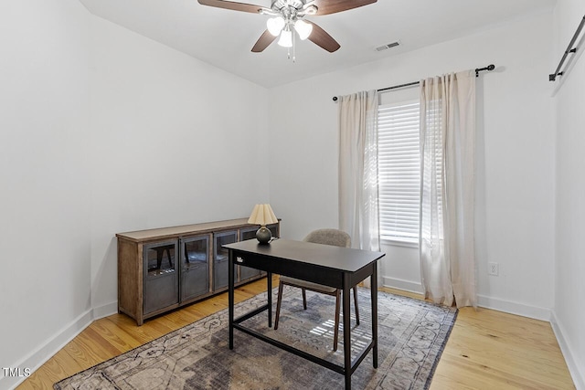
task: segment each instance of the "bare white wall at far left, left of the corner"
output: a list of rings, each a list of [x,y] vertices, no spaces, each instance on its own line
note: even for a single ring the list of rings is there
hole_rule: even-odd
[[[88,43],[77,0],[0,3],[0,367],[90,310]]]

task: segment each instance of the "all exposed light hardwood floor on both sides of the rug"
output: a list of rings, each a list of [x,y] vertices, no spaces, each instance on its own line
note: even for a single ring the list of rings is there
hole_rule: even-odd
[[[240,287],[235,297],[246,300],[264,290],[262,279]],[[420,299],[400,290],[382,290]],[[145,321],[140,327],[122,314],[94,321],[17,389],[52,389],[60,379],[227,307],[224,293]],[[431,390],[517,388],[575,388],[550,324],[500,311],[460,310]]]

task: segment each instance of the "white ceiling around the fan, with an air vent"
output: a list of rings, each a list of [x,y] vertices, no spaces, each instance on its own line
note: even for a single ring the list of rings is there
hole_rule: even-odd
[[[307,16],[339,42],[329,53],[297,41],[296,62],[273,42],[251,47],[268,16],[199,5],[197,0],[80,0],[92,14],[244,79],[273,87],[484,30],[549,9],[556,0],[378,0],[327,16]],[[270,7],[271,0],[246,3]],[[399,41],[400,46],[378,52]]]

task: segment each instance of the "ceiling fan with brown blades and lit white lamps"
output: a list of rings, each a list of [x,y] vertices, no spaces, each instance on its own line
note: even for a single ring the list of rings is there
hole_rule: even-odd
[[[378,0],[271,0],[270,8],[226,0],[197,1],[201,5],[272,16],[266,22],[266,31],[252,47],[254,53],[260,53],[269,47],[277,37],[279,37],[280,46],[294,48],[294,32],[302,40],[309,39],[315,45],[333,53],[341,47],[337,41],[320,26],[304,20],[304,17],[336,14],[358,6],[373,4]]]

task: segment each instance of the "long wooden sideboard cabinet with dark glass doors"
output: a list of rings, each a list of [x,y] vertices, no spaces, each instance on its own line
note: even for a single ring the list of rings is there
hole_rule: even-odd
[[[280,222],[269,225],[280,237]],[[118,233],[118,312],[144,320],[228,289],[228,250],[222,245],[256,237],[248,218]],[[238,266],[237,284],[259,279]]]

